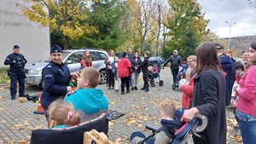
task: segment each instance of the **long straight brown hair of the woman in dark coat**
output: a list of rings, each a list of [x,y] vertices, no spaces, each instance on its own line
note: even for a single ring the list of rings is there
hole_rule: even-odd
[[[196,48],[196,72],[201,73],[207,69],[221,70],[218,53],[214,43],[201,43]]]

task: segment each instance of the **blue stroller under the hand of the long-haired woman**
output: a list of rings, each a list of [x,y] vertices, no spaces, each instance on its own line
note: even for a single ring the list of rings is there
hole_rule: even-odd
[[[192,134],[198,137],[204,137],[203,135],[199,135],[197,133],[206,129],[208,124],[207,116],[196,114],[195,118],[193,118],[190,122],[183,123],[181,122],[181,118],[183,116],[184,109],[185,108],[183,107],[182,110],[175,110],[174,120],[161,120],[162,126],[177,130],[174,134],[172,144],[186,144],[189,139],[189,135]],[[149,135],[148,137],[154,136],[155,132],[157,132],[156,130],[158,130],[152,125],[146,125],[146,129],[153,132],[153,135]]]

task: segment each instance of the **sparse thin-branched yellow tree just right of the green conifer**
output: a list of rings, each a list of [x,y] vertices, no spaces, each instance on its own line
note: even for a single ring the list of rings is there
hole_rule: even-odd
[[[128,31],[126,32],[132,33],[129,43],[134,47],[139,47],[140,52],[145,50],[146,43],[154,43],[157,32],[156,21],[154,20],[156,8],[154,0],[126,1],[125,9],[129,14],[129,19],[126,21],[130,24],[127,26]]]

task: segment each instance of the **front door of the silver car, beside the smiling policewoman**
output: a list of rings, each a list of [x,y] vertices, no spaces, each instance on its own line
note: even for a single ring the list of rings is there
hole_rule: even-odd
[[[79,72],[83,55],[84,51],[78,51],[67,57],[66,64],[70,72]]]

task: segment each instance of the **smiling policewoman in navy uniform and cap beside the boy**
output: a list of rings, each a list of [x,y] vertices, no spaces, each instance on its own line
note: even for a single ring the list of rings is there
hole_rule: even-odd
[[[51,61],[44,66],[42,78],[44,80],[44,91],[41,97],[41,105],[47,110],[49,104],[57,98],[64,98],[71,91],[68,86],[72,78],[66,64],[62,62],[63,53],[59,45],[50,48]],[[47,115],[46,115],[47,118]]]

